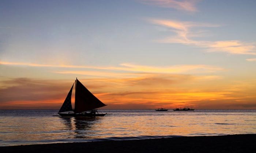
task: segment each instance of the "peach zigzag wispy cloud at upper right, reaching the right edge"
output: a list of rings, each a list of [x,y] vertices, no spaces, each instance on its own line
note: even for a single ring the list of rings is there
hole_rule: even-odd
[[[256,47],[252,43],[241,42],[240,40],[225,40],[225,41],[200,41],[194,40],[196,37],[195,31],[191,30],[194,27],[218,27],[216,24],[194,23],[174,20],[157,20],[151,19],[151,23],[165,26],[175,35],[168,38],[158,40],[161,43],[181,43],[185,45],[207,48],[207,51],[228,52],[230,54],[248,54],[256,55]]]

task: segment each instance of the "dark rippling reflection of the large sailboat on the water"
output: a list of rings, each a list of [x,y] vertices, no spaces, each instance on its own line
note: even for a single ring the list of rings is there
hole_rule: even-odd
[[[63,124],[74,134],[74,138],[89,139],[96,134],[95,127],[100,122],[99,117],[60,117]]]

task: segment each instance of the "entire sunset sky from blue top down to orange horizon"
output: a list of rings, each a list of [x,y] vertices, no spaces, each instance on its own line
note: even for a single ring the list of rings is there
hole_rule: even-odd
[[[60,109],[76,77],[101,109],[256,109],[255,7],[0,0],[0,109]]]

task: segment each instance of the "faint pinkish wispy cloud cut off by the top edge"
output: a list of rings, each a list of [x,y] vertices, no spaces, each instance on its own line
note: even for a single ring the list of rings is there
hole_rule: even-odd
[[[144,4],[156,5],[165,8],[174,8],[177,10],[196,12],[196,3],[198,0],[141,0]]]

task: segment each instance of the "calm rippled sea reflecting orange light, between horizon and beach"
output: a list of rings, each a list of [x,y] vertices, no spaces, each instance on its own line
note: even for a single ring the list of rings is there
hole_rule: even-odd
[[[58,110],[0,110],[0,146],[256,133],[256,110],[101,110],[105,117],[56,117]]]

